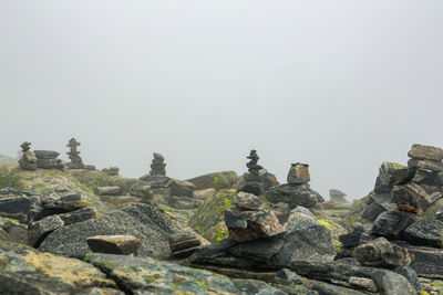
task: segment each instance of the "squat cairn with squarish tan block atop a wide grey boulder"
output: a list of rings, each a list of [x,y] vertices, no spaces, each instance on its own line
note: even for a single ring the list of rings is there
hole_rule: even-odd
[[[272,187],[265,193],[267,201],[288,203],[290,209],[297,206],[311,208],[317,202],[324,201],[308,183],[310,176],[307,164],[292,164],[287,179],[290,182]]]

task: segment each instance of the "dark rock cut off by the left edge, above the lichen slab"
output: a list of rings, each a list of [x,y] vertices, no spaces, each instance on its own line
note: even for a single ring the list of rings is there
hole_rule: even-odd
[[[31,223],[42,212],[42,207],[37,197],[18,191],[4,194],[0,193],[0,215],[10,219],[17,219],[21,223]]]

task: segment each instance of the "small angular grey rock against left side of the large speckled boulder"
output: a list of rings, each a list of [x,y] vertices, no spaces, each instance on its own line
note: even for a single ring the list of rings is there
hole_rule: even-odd
[[[58,215],[47,217],[32,222],[28,228],[29,244],[38,247],[51,232],[63,225],[63,220]]]

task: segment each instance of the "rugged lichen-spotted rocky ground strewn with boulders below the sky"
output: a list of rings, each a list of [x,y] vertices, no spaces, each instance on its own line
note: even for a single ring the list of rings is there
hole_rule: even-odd
[[[251,155],[188,180],[2,166],[0,294],[443,294],[443,150],[353,203]]]

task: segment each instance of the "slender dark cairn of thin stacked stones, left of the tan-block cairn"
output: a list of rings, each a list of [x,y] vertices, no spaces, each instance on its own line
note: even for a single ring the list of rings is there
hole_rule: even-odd
[[[247,158],[249,159],[249,162],[246,164],[248,172],[244,173],[237,182],[237,191],[260,196],[265,191],[265,179],[260,175],[260,170],[264,168],[257,164],[259,157],[255,149],[250,150]]]

